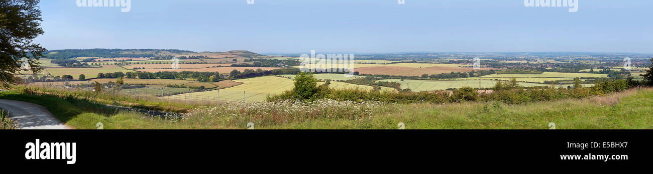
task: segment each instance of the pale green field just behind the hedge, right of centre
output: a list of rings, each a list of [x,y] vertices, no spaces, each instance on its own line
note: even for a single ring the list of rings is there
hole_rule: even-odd
[[[494,80],[379,80],[379,81],[390,81],[397,82],[402,84],[402,89],[411,89],[413,92],[421,91],[439,91],[450,88],[460,88],[460,87],[475,87],[475,88],[489,88],[494,87],[497,81]],[[523,87],[544,87],[549,86],[539,83],[523,83],[520,82],[519,85]]]

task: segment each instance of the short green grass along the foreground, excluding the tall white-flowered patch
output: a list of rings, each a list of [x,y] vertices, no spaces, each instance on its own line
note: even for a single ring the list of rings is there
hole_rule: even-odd
[[[179,128],[244,128],[244,125],[220,124],[212,116],[201,122],[171,122],[145,117],[138,113],[102,113],[75,100],[69,102],[46,96],[27,96],[13,92],[0,93],[0,98],[22,100],[46,106],[64,123],[74,128],[95,128],[104,123],[107,129],[179,129]],[[558,129],[649,129],[653,128],[653,89],[629,91],[582,100],[559,100],[531,104],[499,103],[417,104],[397,106],[391,112],[377,110],[364,119],[313,119],[302,122],[256,124],[257,129],[396,129],[405,123],[407,129],[547,129],[556,123]],[[236,123],[247,123],[234,117]],[[204,124],[206,123],[206,124]],[[209,124],[210,123],[210,124]]]

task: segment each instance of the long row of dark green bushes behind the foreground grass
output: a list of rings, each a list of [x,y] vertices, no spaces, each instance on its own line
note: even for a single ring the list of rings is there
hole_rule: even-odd
[[[268,96],[268,101],[278,100],[301,100],[315,101],[321,99],[347,100],[347,101],[378,101],[388,103],[412,104],[412,103],[445,103],[445,102],[473,102],[473,101],[498,101],[505,104],[522,104],[526,102],[537,102],[547,100],[558,100],[564,98],[585,98],[607,93],[626,91],[631,87],[641,85],[639,81],[628,80],[598,80],[591,88],[583,88],[576,84],[573,89],[556,89],[551,87],[534,87],[524,89],[517,80],[500,81],[494,86],[492,93],[479,94],[476,89],[462,87],[454,89],[451,93],[442,92],[420,92],[413,93],[409,90],[393,92],[379,92],[378,90],[364,91],[359,89],[330,89],[328,83],[317,86],[317,80],[312,74],[302,72],[295,78],[295,88],[285,91],[276,96]]]

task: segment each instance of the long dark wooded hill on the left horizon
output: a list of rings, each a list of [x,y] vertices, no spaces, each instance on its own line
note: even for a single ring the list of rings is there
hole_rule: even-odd
[[[88,50],[49,50],[44,52],[48,59],[71,59],[74,57],[156,57],[156,56],[197,56],[207,57],[257,57],[263,56],[245,50],[234,50],[226,52],[201,52],[187,50],[161,50],[161,49],[88,49]]]

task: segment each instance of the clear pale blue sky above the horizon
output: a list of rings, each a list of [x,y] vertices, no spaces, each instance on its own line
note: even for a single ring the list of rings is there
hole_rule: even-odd
[[[48,50],[155,48],[257,53],[600,51],[653,53],[653,1],[133,0],[117,7],[41,1]]]

